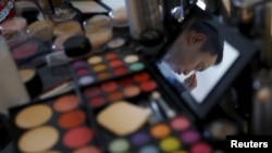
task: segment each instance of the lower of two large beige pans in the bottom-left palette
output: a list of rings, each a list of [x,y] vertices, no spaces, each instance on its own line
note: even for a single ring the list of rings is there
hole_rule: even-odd
[[[34,128],[20,138],[18,149],[22,152],[42,152],[52,148],[59,138],[59,132],[54,127]]]

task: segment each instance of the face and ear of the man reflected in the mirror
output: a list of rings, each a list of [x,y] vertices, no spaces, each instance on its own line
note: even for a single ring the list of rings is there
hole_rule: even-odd
[[[166,62],[177,74],[188,75],[193,71],[201,72],[213,65],[217,55],[201,51],[206,37],[194,31],[182,35],[170,48]]]

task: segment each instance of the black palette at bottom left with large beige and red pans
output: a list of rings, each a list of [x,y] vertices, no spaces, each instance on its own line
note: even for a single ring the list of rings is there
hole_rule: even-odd
[[[75,92],[10,110],[15,152],[100,153],[96,130]]]

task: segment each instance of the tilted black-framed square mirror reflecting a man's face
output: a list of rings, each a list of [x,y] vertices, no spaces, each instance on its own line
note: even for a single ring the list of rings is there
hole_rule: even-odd
[[[181,24],[177,36],[169,36],[171,42],[154,60],[159,72],[174,88],[173,92],[199,118],[203,118],[219,102],[257,52],[251,42],[210,15],[195,9]],[[193,89],[185,81],[191,75],[197,81]]]

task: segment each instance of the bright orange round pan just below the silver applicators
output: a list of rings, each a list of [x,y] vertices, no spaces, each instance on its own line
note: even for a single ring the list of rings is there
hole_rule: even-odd
[[[170,128],[165,124],[157,124],[151,127],[150,133],[158,139],[165,138],[170,135]]]

